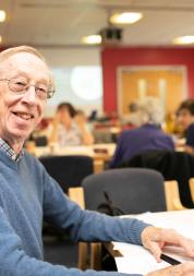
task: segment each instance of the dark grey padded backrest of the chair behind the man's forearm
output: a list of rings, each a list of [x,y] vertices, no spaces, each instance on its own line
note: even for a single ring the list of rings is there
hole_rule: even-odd
[[[155,170],[107,170],[85,178],[82,187],[88,209],[96,211],[105,202],[104,192],[124,214],[167,209],[163,178]]]

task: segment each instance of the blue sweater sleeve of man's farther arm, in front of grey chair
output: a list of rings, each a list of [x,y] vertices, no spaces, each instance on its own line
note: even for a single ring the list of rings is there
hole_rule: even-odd
[[[48,220],[69,229],[76,241],[114,240],[141,244],[141,232],[147,227],[137,219],[121,219],[81,209],[50,177],[45,187],[44,214]]]

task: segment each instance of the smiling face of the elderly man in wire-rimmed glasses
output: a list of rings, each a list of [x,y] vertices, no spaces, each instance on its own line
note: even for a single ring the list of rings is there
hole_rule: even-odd
[[[25,77],[29,86],[24,94],[16,94],[3,79]],[[4,60],[0,69],[0,137],[9,144],[21,144],[29,136],[43,118],[46,99],[35,92],[38,83],[49,85],[49,71],[38,57],[17,52]]]

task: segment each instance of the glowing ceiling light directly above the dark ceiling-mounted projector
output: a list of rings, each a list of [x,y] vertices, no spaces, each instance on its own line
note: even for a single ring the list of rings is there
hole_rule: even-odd
[[[141,20],[143,14],[140,12],[123,12],[114,13],[110,17],[110,22],[113,24],[133,24]]]

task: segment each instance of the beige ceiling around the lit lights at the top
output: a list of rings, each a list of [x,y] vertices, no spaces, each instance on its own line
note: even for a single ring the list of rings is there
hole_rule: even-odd
[[[114,11],[144,14],[123,27],[122,45],[170,46],[177,36],[194,35],[194,0],[2,0],[0,9],[8,13],[2,46],[82,46],[82,37],[108,26]]]

